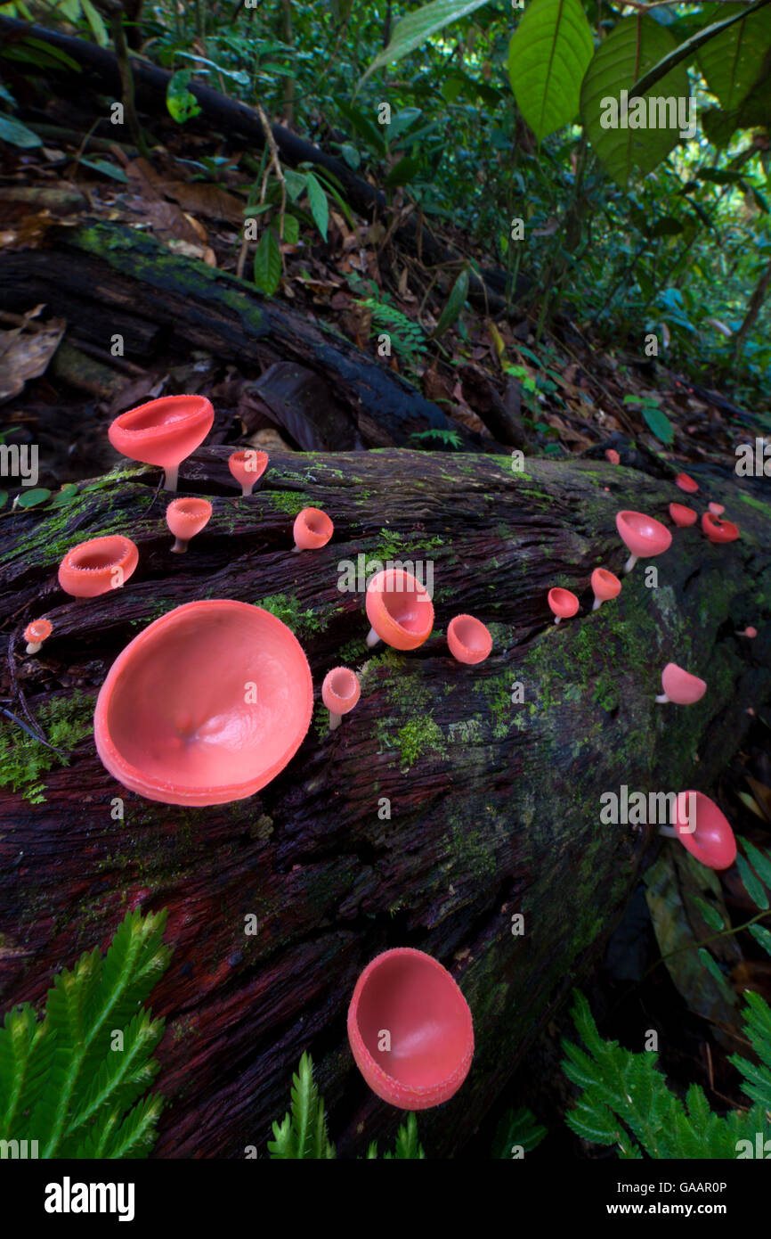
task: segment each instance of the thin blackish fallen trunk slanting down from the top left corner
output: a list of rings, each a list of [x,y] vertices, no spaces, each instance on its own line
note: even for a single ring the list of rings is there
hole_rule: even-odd
[[[0,33],[4,37],[20,37],[20,35],[27,33],[51,43],[53,47],[58,47],[77,61],[84,71],[83,78],[77,79],[78,92],[88,89],[89,82],[93,81],[100,89],[111,90],[115,98],[120,98],[121,82],[118,62],[110,50],[98,47],[95,43],[87,43],[79,38],[72,38],[58,31],[47,30],[43,26],[30,26],[27,22],[11,17],[0,17]],[[139,57],[131,58],[131,69],[137,107],[144,108],[150,115],[162,113],[166,108],[166,88],[171,73]],[[66,71],[63,72],[66,73]],[[46,69],[46,74],[52,78],[57,73],[57,69]],[[198,128],[204,124],[208,128],[219,129],[226,135],[246,139],[250,145],[260,150],[262,149],[265,145],[265,134],[260,118],[252,108],[245,103],[239,103],[236,99],[229,99],[226,95],[202,83],[191,82],[189,90],[196,95],[202,109]],[[385,195],[356,176],[342,160],[328,155],[327,151],[319,150],[313,142],[306,141],[290,129],[285,129],[283,125],[272,125],[272,133],[283,161],[291,166],[311,161],[318,167],[332,172],[342,183],[349,206],[358,214],[373,218],[386,213],[387,203]],[[412,212],[395,229],[394,239],[398,242],[400,248],[417,254],[428,266],[454,265],[457,273],[458,264],[465,255],[458,250],[449,249],[439,240],[431,230],[422,213],[420,213],[418,218],[416,216],[418,213]],[[469,299],[485,311],[489,310],[490,313],[502,313],[506,309],[506,299],[504,296],[506,284],[505,273],[483,269],[481,275],[483,280],[474,271],[470,271]],[[520,284],[522,289],[527,287],[526,280],[521,280]]]

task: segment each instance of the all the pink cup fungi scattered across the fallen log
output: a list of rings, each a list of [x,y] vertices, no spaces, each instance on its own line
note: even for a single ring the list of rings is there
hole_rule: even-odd
[[[109,427],[113,446],[124,456],[165,471],[167,491],[176,491],[179,465],[205,439],[214,421],[210,403],[199,395],[151,400],[121,414]],[[619,463],[618,452],[606,452]],[[235,451],[230,473],[249,497],[269,465],[266,452]],[[681,489],[698,486],[679,475]],[[671,504],[676,525],[694,524],[697,513]],[[702,528],[710,541],[734,541],[739,530],[721,520],[710,504]],[[166,523],[176,554],[212,517],[208,499],[179,497],[170,502]],[[620,512],[616,527],[630,558],[658,555],[672,543],[671,532],[639,512]],[[303,508],[295,519],[296,553],[319,550],[334,532],[325,512]],[[64,555],[62,590],[88,598],[123,586],[135,571],[139,550],[120,534],[79,543]],[[620,580],[606,569],[592,574],[594,610],[618,597]],[[548,592],[554,623],[578,612],[579,601],[564,589]],[[411,650],[433,628],[427,590],[401,569],[384,569],[368,585],[366,646],[379,641]],[[27,624],[27,653],[37,653],[51,636],[41,617]],[[754,637],[755,629],[741,633]],[[449,650],[459,663],[476,664],[490,654],[493,637],[480,620],[458,615],[447,629]],[[245,691],[246,688],[246,691]],[[668,663],[658,703],[692,705],[707,690],[704,680]],[[359,676],[335,667],[324,678],[322,700],[329,727],[337,729],[361,693]],[[313,681],[307,657],[291,629],[270,612],[235,600],[200,600],[173,608],[150,623],[118,655],[98,695],[94,740],[99,757],[124,787],[165,804],[224,804],[252,795],[292,760],[311,724]],[[696,823],[693,805],[696,803]],[[662,826],[712,869],[734,862],[733,830],[719,808],[697,792],[676,798],[674,821]],[[377,1097],[403,1110],[447,1101],[463,1084],[474,1052],[472,1012],[450,973],[432,955],[413,948],[386,950],[360,974],[348,1011],[350,1048],[364,1079]]]

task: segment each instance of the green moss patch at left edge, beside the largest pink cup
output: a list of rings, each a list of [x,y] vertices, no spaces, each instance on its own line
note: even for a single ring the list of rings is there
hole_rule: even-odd
[[[50,745],[64,751],[63,756],[16,726],[12,721],[0,724],[0,787],[21,792],[31,804],[46,799],[41,774],[54,766],[68,766],[67,751],[89,736],[94,726],[94,700],[75,691],[71,698],[53,698],[36,714]]]

